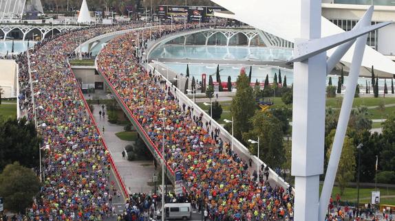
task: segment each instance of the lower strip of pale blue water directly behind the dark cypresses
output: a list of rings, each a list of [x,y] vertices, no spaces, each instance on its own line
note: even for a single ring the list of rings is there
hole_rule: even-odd
[[[170,69],[175,72],[186,73],[186,64],[175,64],[175,63],[165,63]],[[244,68],[246,74],[250,71],[250,66],[240,66],[240,65],[220,65],[220,76],[222,82],[226,82],[228,80],[228,76],[231,76],[232,82],[237,80],[237,76],[239,75],[241,69]],[[287,78],[287,84],[290,86],[293,83],[293,71],[290,69],[283,69],[279,67],[270,67],[270,66],[253,66],[253,71],[251,73],[251,82],[255,82],[258,80],[259,82],[264,82],[266,75],[269,76],[269,82],[273,82],[273,78],[275,73],[277,73],[277,80],[279,76],[279,69],[281,69],[281,78],[284,81],[284,76]],[[206,73],[207,78],[209,75],[213,75],[213,80],[215,80],[215,73],[217,71],[217,65],[189,65],[189,74],[194,76],[196,80],[202,80],[202,73]],[[337,86],[337,80],[339,76],[337,75],[328,75],[326,79],[326,84],[328,85],[329,77],[332,78],[332,85]],[[348,77],[344,77],[344,84],[347,84]],[[358,84],[365,88],[366,81],[370,82],[371,78],[361,77],[358,80]],[[384,86],[384,79],[378,80],[379,86]],[[391,80],[387,80],[387,86],[391,88]]]

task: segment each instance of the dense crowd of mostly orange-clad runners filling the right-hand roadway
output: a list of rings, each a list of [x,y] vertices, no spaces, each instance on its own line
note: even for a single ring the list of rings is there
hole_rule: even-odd
[[[292,220],[290,189],[264,179],[256,183],[256,173],[220,140],[219,130],[210,135],[211,124],[179,104],[173,86],[138,66],[136,36],[111,40],[98,56],[98,68],[160,151],[165,129],[167,164],[182,171],[191,200],[202,202],[212,220]]]

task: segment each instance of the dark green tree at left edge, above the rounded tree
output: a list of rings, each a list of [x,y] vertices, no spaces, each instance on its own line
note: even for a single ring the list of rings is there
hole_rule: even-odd
[[[0,171],[15,161],[29,168],[39,165],[40,139],[32,121],[0,121],[0,143]]]

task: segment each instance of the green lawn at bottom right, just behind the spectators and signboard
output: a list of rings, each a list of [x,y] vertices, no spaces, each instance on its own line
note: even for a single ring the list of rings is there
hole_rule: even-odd
[[[319,187],[320,191],[322,189],[322,185]],[[378,188],[380,190],[381,197],[383,196],[394,196],[395,195],[395,189],[394,188]],[[359,189],[359,202],[370,202],[370,196],[372,195],[372,191],[374,191],[374,188],[360,188]],[[339,187],[333,187],[332,189],[332,198],[336,199],[336,195],[340,194],[340,189]],[[348,201],[348,202],[356,202],[357,198],[357,191],[356,187],[347,187],[345,188],[345,191],[343,193],[343,196],[341,196],[342,201]],[[388,205],[395,205],[395,197],[392,198],[381,198],[381,204],[388,204]]]

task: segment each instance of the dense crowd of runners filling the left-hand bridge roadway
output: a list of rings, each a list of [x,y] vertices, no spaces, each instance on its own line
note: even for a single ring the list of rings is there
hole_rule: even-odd
[[[27,54],[18,56],[21,108],[36,121],[45,155],[43,187],[28,211],[30,220],[102,220],[114,213],[111,201],[120,197],[121,189],[110,177],[111,156],[87,113],[67,58],[89,38],[138,26],[89,28],[43,40],[30,52],[32,80]]]

